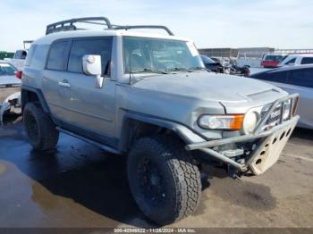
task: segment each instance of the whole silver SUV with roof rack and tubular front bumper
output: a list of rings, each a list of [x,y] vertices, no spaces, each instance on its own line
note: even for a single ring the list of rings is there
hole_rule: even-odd
[[[106,29],[75,26],[99,21]],[[164,26],[104,17],[47,26],[30,47],[21,102],[35,149],[54,148],[61,131],[127,155],[132,195],[158,224],[196,210],[202,163],[223,164],[234,178],[262,174],[299,119],[298,95],[207,71],[192,41]]]

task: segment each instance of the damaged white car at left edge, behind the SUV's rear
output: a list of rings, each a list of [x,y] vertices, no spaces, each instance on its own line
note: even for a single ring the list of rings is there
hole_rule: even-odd
[[[4,113],[21,113],[21,79],[16,72],[12,64],[0,61],[0,123]]]

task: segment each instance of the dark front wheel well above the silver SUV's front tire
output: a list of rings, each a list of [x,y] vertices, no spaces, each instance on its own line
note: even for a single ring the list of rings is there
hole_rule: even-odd
[[[173,130],[149,122],[128,120],[127,126],[124,127],[126,128],[123,128],[124,132],[121,144],[124,151],[128,151],[135,140],[156,134],[172,135],[174,138],[179,138],[182,141],[182,138]]]

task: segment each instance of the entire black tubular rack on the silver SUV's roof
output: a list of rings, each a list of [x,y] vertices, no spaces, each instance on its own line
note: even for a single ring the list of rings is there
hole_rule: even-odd
[[[103,22],[100,22],[103,21]],[[89,23],[106,26],[105,29],[165,29],[165,31],[173,36],[173,32],[163,25],[114,25],[106,17],[85,17],[85,18],[76,18],[66,21],[58,21],[52,24],[47,25],[46,35],[59,32],[59,31],[72,31],[72,30],[84,30],[77,28],[74,23]]]

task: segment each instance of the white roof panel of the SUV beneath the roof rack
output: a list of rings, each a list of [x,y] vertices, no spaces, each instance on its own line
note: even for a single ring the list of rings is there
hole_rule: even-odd
[[[61,38],[85,38],[85,37],[106,37],[106,36],[132,36],[140,38],[165,38],[190,41],[190,39],[188,38],[181,38],[167,34],[153,34],[125,29],[105,29],[105,30],[72,30],[72,31],[54,32],[42,38],[38,38],[38,40],[34,41],[33,44],[47,45]]]

